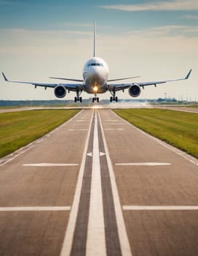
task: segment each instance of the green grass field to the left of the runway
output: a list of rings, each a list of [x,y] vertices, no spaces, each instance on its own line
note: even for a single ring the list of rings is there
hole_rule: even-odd
[[[0,113],[0,157],[41,138],[79,110],[29,110]]]

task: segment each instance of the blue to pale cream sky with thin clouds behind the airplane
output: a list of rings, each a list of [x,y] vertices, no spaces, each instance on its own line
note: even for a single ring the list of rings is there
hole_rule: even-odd
[[[198,100],[197,0],[0,0],[0,71],[11,80],[41,83],[57,82],[50,76],[82,79],[94,20],[97,56],[107,62],[109,79],[183,78],[193,69],[189,80],[148,86],[139,98]],[[130,98],[127,90],[117,96]],[[1,76],[0,99],[56,98],[53,89],[6,83]]]

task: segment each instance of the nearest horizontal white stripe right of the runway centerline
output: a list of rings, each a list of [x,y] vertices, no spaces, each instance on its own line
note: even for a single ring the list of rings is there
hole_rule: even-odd
[[[123,210],[130,211],[185,211],[198,210],[198,206],[122,206]]]

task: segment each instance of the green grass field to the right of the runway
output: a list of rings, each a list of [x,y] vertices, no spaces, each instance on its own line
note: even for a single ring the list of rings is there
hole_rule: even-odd
[[[145,132],[198,158],[197,113],[161,109],[124,109],[114,112]]]

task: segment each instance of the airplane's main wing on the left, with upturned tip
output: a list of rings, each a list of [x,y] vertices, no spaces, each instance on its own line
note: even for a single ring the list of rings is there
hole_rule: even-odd
[[[23,82],[23,81],[14,81],[14,80],[8,80],[7,77],[5,76],[4,72],[2,72],[2,75],[4,77],[4,80],[6,82],[11,82],[11,83],[25,83],[25,84],[31,84],[33,86],[41,86],[44,88],[50,87],[50,88],[55,88],[58,85],[64,86],[66,89],[69,91],[76,91],[78,90],[83,90],[84,87],[82,83],[35,83],[35,82]]]

